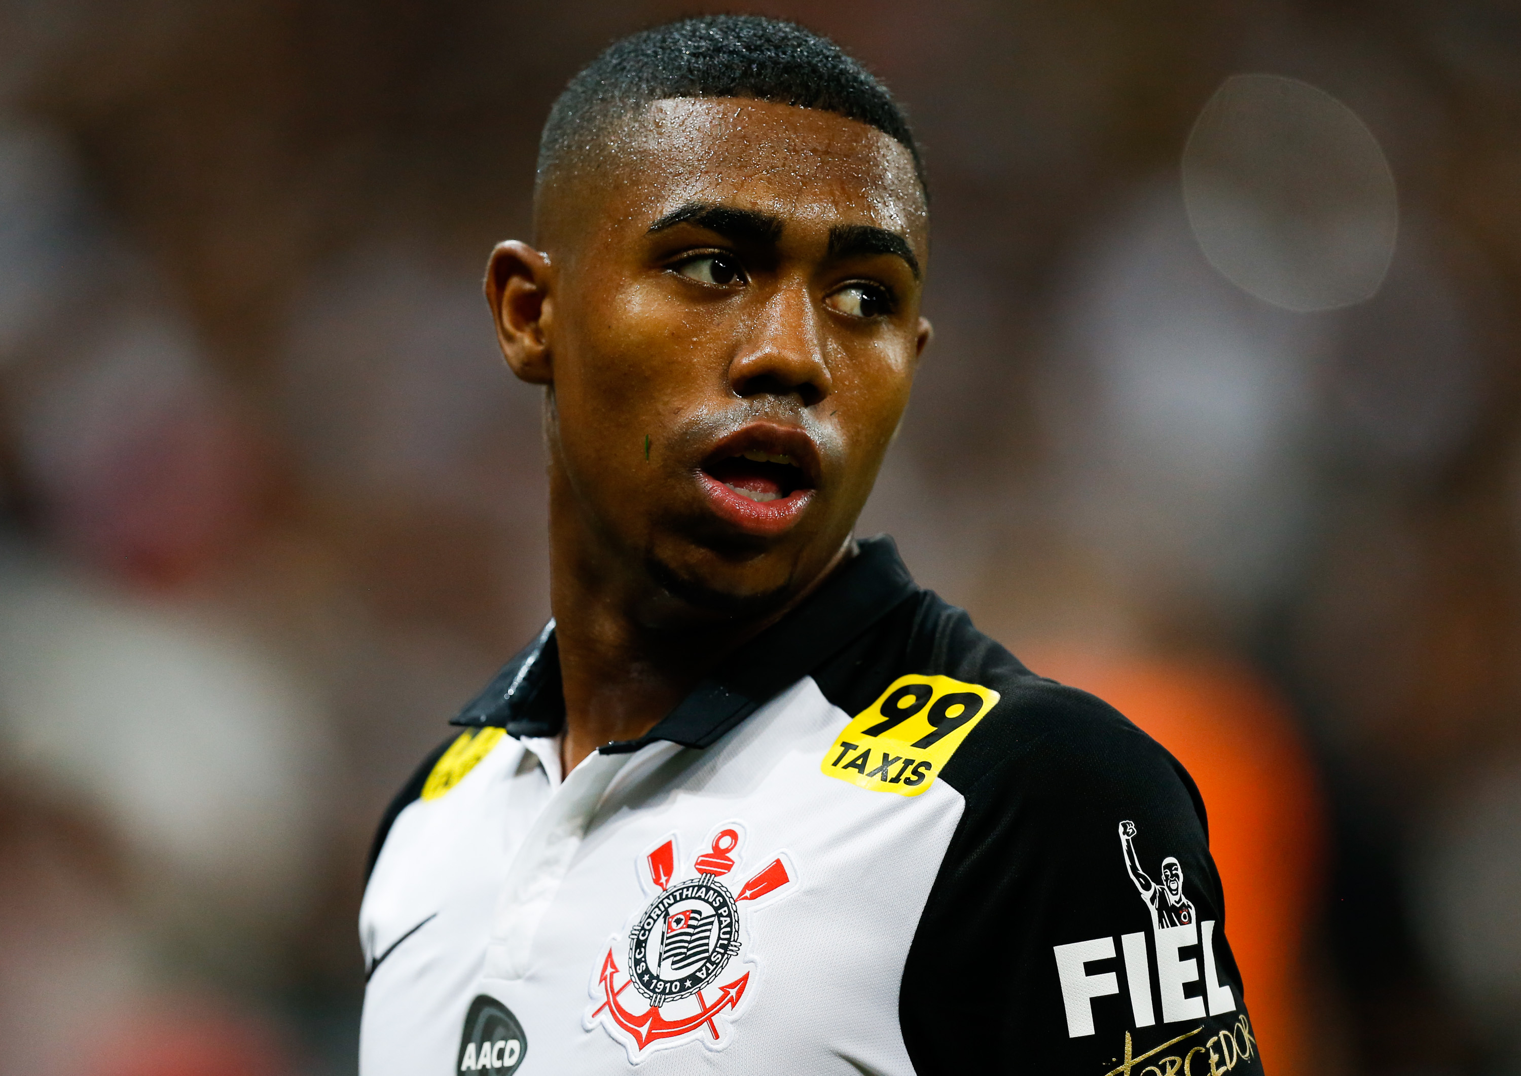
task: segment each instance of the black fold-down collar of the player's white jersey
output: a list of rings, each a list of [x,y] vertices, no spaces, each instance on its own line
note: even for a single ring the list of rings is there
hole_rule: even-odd
[[[656,740],[706,748],[916,593],[893,540],[867,538],[808,600],[742,646],[645,736],[605,743],[599,751],[637,751]],[[564,725],[564,695],[555,622],[545,625],[452,723],[505,728],[517,737],[557,736]]]

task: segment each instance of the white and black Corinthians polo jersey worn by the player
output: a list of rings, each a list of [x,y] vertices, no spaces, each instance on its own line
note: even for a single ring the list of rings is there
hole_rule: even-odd
[[[1144,793],[1086,790],[1115,784],[1086,743],[1065,774],[1021,746],[1053,719],[1121,745]],[[1062,942],[1142,910],[1115,819],[1215,877],[1176,763],[917,590],[885,541],[564,780],[552,626],[456,723],[377,842],[362,1076],[1088,1071],[1135,1029],[1116,986],[1084,1002],[1103,1043],[1060,1030]],[[1048,892],[1069,865],[1074,892]],[[1208,964],[1240,997],[1218,932]]]

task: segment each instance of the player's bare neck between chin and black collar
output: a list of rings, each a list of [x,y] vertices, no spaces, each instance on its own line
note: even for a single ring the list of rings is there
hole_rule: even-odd
[[[584,529],[551,511],[549,600],[555,616],[566,725],[560,748],[564,774],[596,748],[637,740],[660,722],[726,657],[786,616],[853,549],[841,546],[827,567],[780,606],[733,619],[697,611],[678,626],[651,626],[653,603],[675,600],[642,565],[619,564],[587,549]]]

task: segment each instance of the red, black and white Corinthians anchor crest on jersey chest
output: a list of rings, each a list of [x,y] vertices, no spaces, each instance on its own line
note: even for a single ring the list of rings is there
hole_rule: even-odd
[[[625,1044],[630,1061],[645,1050],[698,1035],[710,1049],[726,1043],[754,959],[742,957],[742,907],[788,886],[794,872],[777,856],[739,886],[744,825],[726,822],[692,863],[695,877],[675,880],[680,862],[672,834],[640,863],[640,883],[654,898],[614,938],[592,980],[596,1024]],[[619,953],[621,950],[621,953]],[[750,967],[742,967],[750,965]]]

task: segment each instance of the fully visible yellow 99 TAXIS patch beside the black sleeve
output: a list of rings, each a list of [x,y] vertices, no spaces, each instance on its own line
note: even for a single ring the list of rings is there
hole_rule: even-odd
[[[949,676],[899,676],[846,725],[818,769],[873,792],[917,796],[998,698]]]

